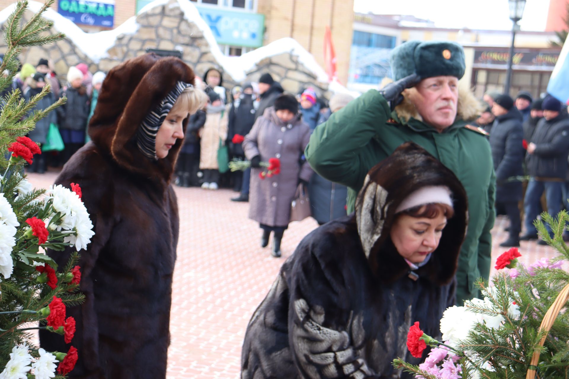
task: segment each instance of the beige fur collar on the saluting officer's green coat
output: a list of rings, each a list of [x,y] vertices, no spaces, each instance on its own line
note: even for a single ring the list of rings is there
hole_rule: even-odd
[[[403,102],[395,107],[395,112],[403,122],[408,122],[411,118],[415,120],[422,121],[423,118],[415,109],[415,105],[409,99],[409,91],[415,89],[407,89],[403,91]],[[481,113],[483,113],[484,108],[480,104],[480,101],[474,96],[472,91],[459,86],[459,101],[456,112],[456,120],[464,120],[471,122],[476,120]]]

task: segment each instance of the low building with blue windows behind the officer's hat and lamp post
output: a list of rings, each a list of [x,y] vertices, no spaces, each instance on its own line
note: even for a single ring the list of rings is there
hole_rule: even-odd
[[[466,71],[461,85],[468,85],[481,97],[487,90],[504,89],[511,31],[437,28],[428,20],[402,15],[356,14],[353,24],[351,65],[348,88],[365,91],[377,88],[384,77],[391,77],[389,54],[408,40],[449,40],[464,47]],[[518,31],[513,57],[510,91],[530,91],[538,96],[559,57],[553,31]]]

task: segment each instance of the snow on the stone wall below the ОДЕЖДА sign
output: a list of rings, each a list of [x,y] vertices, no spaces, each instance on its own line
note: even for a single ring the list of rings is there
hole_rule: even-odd
[[[43,6],[42,3],[30,1],[28,9],[36,13]],[[11,13],[13,13],[16,3],[7,6],[0,11],[0,23],[6,22]],[[108,56],[108,49],[112,48],[116,43],[117,37],[121,34],[134,34],[138,31],[139,25],[136,18],[132,17],[125,21],[121,26],[113,29],[97,33],[85,33],[79,26],[71,20],[60,15],[52,9],[47,9],[43,17],[53,21],[53,28],[58,32],[63,32],[86,56],[93,62],[98,62],[102,58]]]

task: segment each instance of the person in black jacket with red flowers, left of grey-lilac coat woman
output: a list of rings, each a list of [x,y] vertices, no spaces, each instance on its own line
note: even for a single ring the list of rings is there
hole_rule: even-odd
[[[231,155],[238,159],[245,159],[245,152],[243,151],[241,143],[245,136],[249,134],[255,123],[257,106],[258,103],[255,101],[255,95],[253,95],[253,86],[250,83],[246,83],[243,86],[241,95],[233,101],[231,109],[229,110],[229,149]],[[236,172],[234,188],[237,188],[241,193],[238,197],[232,198],[232,201],[249,201],[250,176],[250,169],[244,172]],[[245,183],[245,181],[247,183]]]

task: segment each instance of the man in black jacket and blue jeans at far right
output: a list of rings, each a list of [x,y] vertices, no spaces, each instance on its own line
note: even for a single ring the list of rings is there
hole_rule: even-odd
[[[539,199],[545,190],[547,212],[556,216],[562,209],[563,184],[567,176],[569,154],[569,118],[561,112],[561,102],[548,95],[543,99],[543,119],[539,120],[531,143],[527,145],[527,184],[523,200],[526,234],[521,240],[537,239],[533,225],[539,213]],[[551,234],[549,226],[547,230]],[[543,240],[538,244],[546,245]]]

